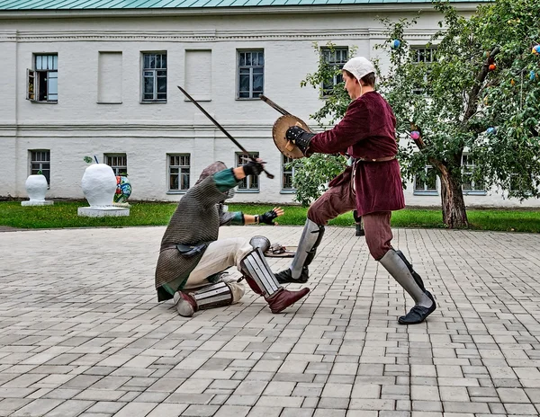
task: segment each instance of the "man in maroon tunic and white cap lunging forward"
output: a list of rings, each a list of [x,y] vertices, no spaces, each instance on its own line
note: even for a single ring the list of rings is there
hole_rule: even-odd
[[[356,209],[364,222],[365,242],[371,255],[416,303],[398,322],[418,324],[433,313],[436,303],[405,255],[391,245],[392,211],[405,207],[400,164],[396,160],[396,119],[388,102],[374,91],[375,68],[369,60],[350,59],[343,67],[343,79],[352,99],[343,120],[317,135],[293,126],[287,130],[286,138],[305,156],[347,152],[355,162],[329,182],[329,190],[311,205],[293,263],[276,278],[282,283],[306,282],[308,265],[320,244],[324,225]]]

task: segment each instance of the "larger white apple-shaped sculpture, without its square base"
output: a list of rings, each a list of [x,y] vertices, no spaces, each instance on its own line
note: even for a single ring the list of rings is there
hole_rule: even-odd
[[[85,170],[81,187],[90,207],[112,206],[116,176],[107,164],[91,164]]]

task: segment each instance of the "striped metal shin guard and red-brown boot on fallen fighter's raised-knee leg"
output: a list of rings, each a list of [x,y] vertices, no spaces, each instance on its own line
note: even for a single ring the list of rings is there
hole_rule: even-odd
[[[293,306],[296,301],[310,292],[309,288],[302,288],[300,291],[289,291],[279,285],[260,249],[255,249],[247,254],[240,262],[240,270],[244,274],[249,287],[258,295],[265,297],[272,313],[279,313],[288,306]]]

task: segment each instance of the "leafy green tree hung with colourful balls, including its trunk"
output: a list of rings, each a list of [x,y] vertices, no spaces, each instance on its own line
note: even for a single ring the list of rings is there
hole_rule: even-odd
[[[443,20],[427,45],[437,47],[432,62],[411,54],[407,30],[416,19],[382,20],[387,41],[378,48],[391,56],[377,88],[398,120],[402,174],[422,178],[433,166],[448,227],[468,226],[464,183],[520,200],[540,196],[540,55],[532,52],[540,41],[539,6],[539,0],[496,0],[466,18],[436,3]],[[396,49],[393,40],[401,42]],[[464,153],[474,161],[465,171]]]

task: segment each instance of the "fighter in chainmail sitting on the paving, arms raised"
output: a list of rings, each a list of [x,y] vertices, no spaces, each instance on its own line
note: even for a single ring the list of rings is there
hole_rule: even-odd
[[[222,225],[274,224],[284,211],[275,208],[261,216],[223,211],[223,202],[232,198],[234,187],[247,175],[263,171],[261,160],[228,169],[218,161],[205,168],[195,185],[185,193],[166,227],[157,260],[157,300],[174,298],[179,315],[215,306],[237,303],[244,295],[244,285],[222,279],[223,271],[238,266],[247,284],[265,297],[272,313],[279,313],[304,297],[300,291],[284,289],[270,270],[261,247],[266,239],[233,237],[218,240]]]

